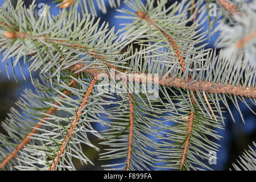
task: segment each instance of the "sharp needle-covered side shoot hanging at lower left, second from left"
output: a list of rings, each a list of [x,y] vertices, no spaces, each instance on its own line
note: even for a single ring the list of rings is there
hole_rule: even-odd
[[[42,109],[46,109],[48,107],[43,107],[42,106],[34,106],[34,107],[28,107],[28,108],[32,108],[34,109],[34,112],[31,112],[32,114],[28,113],[28,117],[33,118],[32,116],[34,116],[38,111],[40,112],[40,115],[44,114],[47,115],[47,119],[44,120],[44,123],[42,123],[42,128],[38,129],[38,133],[34,134],[31,137],[31,142],[29,144],[26,144],[26,146],[24,146],[22,148],[22,150],[19,151],[19,155],[17,156],[17,158],[15,158],[15,160],[13,160],[13,162],[11,162],[6,169],[10,169],[10,167],[12,165],[15,166],[16,169],[25,169],[25,170],[35,170],[35,169],[42,169],[42,170],[49,170],[51,169],[50,164],[54,162],[55,156],[57,156],[61,144],[63,144],[63,142],[65,141],[65,134],[68,135],[68,131],[69,129],[71,129],[72,127],[72,122],[69,122],[69,116],[67,118],[67,115],[65,115],[65,113],[70,112],[71,114],[69,114],[72,118],[73,118],[73,112],[75,112],[76,108],[74,108],[74,106],[78,105],[80,102],[80,99],[77,100],[77,98],[80,98],[80,92],[86,91],[87,89],[84,88],[84,84],[88,84],[88,82],[86,81],[81,81],[82,75],[85,74],[81,74],[79,75],[78,78],[72,77],[73,80],[75,80],[77,82],[76,88],[71,88],[68,87],[68,85],[62,85],[61,87],[68,89],[71,91],[71,94],[69,94],[69,97],[65,96],[61,90],[59,91],[59,89],[54,89],[54,87],[56,86],[56,84],[53,84],[53,90],[61,95],[63,95],[64,97],[61,97],[61,100],[59,100],[59,98],[55,98],[56,102],[59,104],[57,106],[57,110],[55,112],[54,115],[48,115],[46,113],[42,113],[40,112],[40,110]],[[43,77],[44,78],[44,77]],[[46,76],[45,77],[48,81],[49,77]],[[67,78],[61,77],[62,79],[64,79],[64,81]],[[89,76],[89,78],[91,79],[91,77]],[[54,81],[56,78],[53,79],[53,82],[56,83],[56,81]],[[43,90],[39,90],[42,93],[45,93],[46,90],[47,92],[53,92],[52,88],[49,89],[48,87],[44,87],[46,85],[38,85],[38,82],[35,81],[36,87],[40,86],[40,89]],[[48,85],[48,84],[47,84]],[[41,88],[43,86],[43,88]],[[52,91],[48,91],[48,90],[52,90]],[[40,93],[39,92],[39,93]],[[53,93],[55,93],[53,92]],[[102,94],[101,94],[102,95]],[[28,97],[29,96],[29,97]],[[29,95],[26,96],[28,99],[30,97],[35,97],[35,94],[31,94],[29,93]],[[103,95],[104,96],[104,95]],[[67,145],[65,146],[65,152],[63,153],[63,155],[61,155],[61,157],[63,159],[59,159],[59,164],[55,167],[55,168],[67,168],[67,169],[71,169],[72,168],[72,162],[71,162],[71,157],[72,158],[79,158],[81,160],[81,162],[83,163],[87,163],[90,162],[90,160],[86,157],[86,155],[84,154],[84,152],[81,150],[81,147],[79,146],[80,143],[84,143],[87,144],[90,147],[95,148],[96,150],[98,150],[98,148],[96,146],[94,146],[93,144],[91,144],[86,136],[86,133],[90,132],[93,135],[96,135],[96,137],[101,138],[100,135],[97,134],[97,131],[92,129],[92,126],[90,126],[90,122],[101,122],[100,119],[97,118],[97,114],[94,114],[95,112],[97,113],[98,109],[101,111],[101,113],[104,113],[104,109],[101,108],[101,105],[104,105],[104,102],[101,105],[98,105],[98,96],[91,96],[93,99],[92,100],[88,100],[86,103],[88,103],[88,108],[83,109],[82,113],[80,114],[80,119],[79,121],[76,123],[76,129],[75,131],[72,133],[72,139],[69,138],[69,140],[71,140],[71,142],[68,142]],[[40,98],[40,97],[39,97]],[[52,98],[50,98],[49,100],[52,100]],[[36,102],[43,102],[43,105],[47,104],[47,105],[53,105],[51,103],[47,103],[47,100],[42,100],[39,99]],[[104,101],[104,100],[103,100]],[[34,104],[35,101],[32,101],[32,103]],[[46,103],[44,103],[46,102]],[[96,104],[95,104],[96,103]],[[22,106],[22,109],[24,109],[24,104],[20,104]],[[97,106],[98,105],[98,106]],[[25,105],[27,106],[27,105]],[[53,105],[56,106],[56,105]],[[89,114],[86,114],[87,111],[90,110]],[[16,112],[17,113],[17,112]],[[18,113],[19,114],[19,113]],[[19,114],[20,115],[20,114]],[[23,113],[23,115],[26,115],[26,113]],[[75,114],[74,114],[75,115]],[[10,122],[6,123],[6,126],[9,126],[9,123],[11,125],[13,125],[14,123],[16,123],[16,120],[18,120],[18,118],[15,117],[15,115],[10,115],[11,120]],[[26,118],[26,117],[24,117]],[[38,118],[38,117],[36,117]],[[85,121],[86,122],[83,122]],[[35,120],[35,119],[34,119]],[[42,120],[42,119],[40,119]],[[18,120],[18,122],[20,122]],[[27,122],[27,121],[26,121]],[[29,123],[29,122],[28,122]],[[67,125],[68,124],[68,125]],[[14,125],[15,126],[15,125]],[[6,127],[6,129],[8,129],[8,127]],[[26,131],[26,130],[24,130]],[[22,133],[24,133],[24,131]],[[10,137],[13,136],[10,133]],[[9,146],[8,140],[3,139],[2,135],[0,138],[1,142],[3,144],[6,145],[6,147],[8,147],[8,151],[10,150],[9,148],[13,148],[13,146]],[[1,150],[1,154],[2,154],[2,149]],[[4,149],[5,150],[5,149]],[[75,151],[74,151],[75,150]],[[6,152],[6,151],[5,151]],[[35,157],[33,157],[34,155],[39,155],[40,154],[44,154],[47,156],[46,161],[44,163],[39,163],[39,159],[36,159]],[[5,156],[5,155],[4,155]],[[3,156],[1,155],[0,158],[2,159]],[[69,160],[70,159],[70,160]],[[64,163],[65,162],[65,163]],[[20,166],[20,163],[22,163],[22,166]],[[90,162],[92,163],[92,162]],[[39,165],[40,164],[40,165]],[[43,166],[42,166],[43,164]],[[73,168],[75,169],[75,168]]]

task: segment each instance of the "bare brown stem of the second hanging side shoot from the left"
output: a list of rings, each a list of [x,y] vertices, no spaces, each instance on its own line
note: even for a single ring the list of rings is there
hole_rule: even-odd
[[[92,80],[92,82],[90,82],[87,93],[84,95],[84,99],[82,100],[82,103],[80,104],[79,110],[77,110],[76,117],[73,120],[71,127],[69,128],[68,135],[66,135],[66,138],[65,138],[63,144],[61,145],[61,148],[51,165],[51,168],[50,168],[51,171],[53,171],[55,169],[55,167],[57,166],[57,163],[59,162],[59,160],[61,158],[61,155],[65,151],[65,147],[67,146],[69,139],[71,139],[73,131],[75,131],[75,129],[76,129],[76,123],[80,119],[80,115],[82,114],[82,109],[84,109],[84,106],[86,105],[86,102],[88,101],[88,97],[90,96],[90,93],[92,93],[93,86],[95,83],[96,83],[95,80]]]

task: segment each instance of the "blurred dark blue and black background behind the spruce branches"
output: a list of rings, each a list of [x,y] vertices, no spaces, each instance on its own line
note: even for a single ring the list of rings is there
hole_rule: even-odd
[[[0,6],[3,4],[3,0],[0,0]],[[32,1],[26,0],[24,1],[26,6],[28,6]],[[12,1],[13,5],[15,6],[16,0]],[[50,11],[53,15],[59,14],[59,7],[56,7],[57,3],[53,3],[53,1],[44,1],[44,0],[36,0],[36,4],[45,3],[51,6]],[[170,1],[170,4],[172,2]],[[97,3],[96,3],[97,4]],[[115,26],[115,31],[117,32],[122,26],[119,26],[120,23],[126,23],[124,19],[117,19],[114,16],[118,15],[115,9],[111,9],[109,6],[108,1],[105,0],[105,5],[107,7],[108,13],[102,14],[101,11],[97,10],[98,17],[101,17],[101,22],[106,21],[109,22],[110,27]],[[97,5],[96,5],[97,7]],[[121,3],[121,7],[126,7],[124,3]],[[119,7],[119,8],[121,8]],[[40,7],[37,8],[40,10]],[[207,30],[207,22],[203,24],[203,31]],[[218,36],[218,32],[213,35],[213,37],[208,42],[208,48],[213,46],[213,40],[216,39]],[[0,60],[2,57],[0,55]],[[24,68],[27,68],[27,64],[23,65]],[[6,72],[6,68],[9,70],[9,74]],[[9,112],[10,107],[15,107],[15,101],[21,96],[23,93],[24,88],[34,89],[30,75],[27,72],[24,72],[24,77],[26,80],[23,79],[19,68],[15,68],[16,76],[13,74],[13,68],[11,65],[5,65],[5,63],[0,62],[0,123],[7,117],[7,113]],[[37,77],[38,73],[33,73],[33,77]],[[255,115],[247,109],[247,107],[241,104],[241,111],[245,118],[246,125],[243,124],[242,119],[236,110],[236,108],[230,103],[234,118],[236,119],[236,123],[232,121],[228,113],[224,113],[224,117],[226,118],[225,121],[225,130],[219,130],[218,133],[224,137],[220,141],[216,141],[220,146],[220,151],[217,153],[217,164],[212,165],[214,170],[228,170],[229,167],[232,166],[232,163],[235,162],[238,155],[241,155],[244,149],[247,149],[248,145],[251,146],[252,141],[255,141],[256,138],[256,119]],[[256,108],[252,108],[256,110]],[[3,130],[2,126],[0,125],[0,132],[6,133]],[[93,143],[96,144],[97,147],[102,148],[99,144],[99,141],[94,140]],[[106,164],[109,161],[102,161],[98,160],[98,154],[96,151],[89,147],[85,147],[86,155],[88,155],[89,159],[92,160],[95,166],[92,164],[88,164],[87,166],[82,166],[79,161],[74,162],[77,169],[80,170],[102,170],[101,165]],[[154,169],[154,168],[152,168]]]

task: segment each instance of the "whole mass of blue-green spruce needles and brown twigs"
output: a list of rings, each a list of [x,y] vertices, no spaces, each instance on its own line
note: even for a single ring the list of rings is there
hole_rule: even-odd
[[[130,20],[118,31],[100,23],[105,3],[59,1],[57,16],[48,6],[40,16],[35,1],[3,3],[2,61],[40,79],[31,74],[35,91],[24,90],[2,122],[0,169],[76,170],[73,159],[93,164],[83,145],[102,169],[211,169],[223,113],[245,122],[242,103],[256,114],[255,1],[109,0]],[[218,50],[204,44],[209,20]],[[251,143],[230,169],[255,170]]]

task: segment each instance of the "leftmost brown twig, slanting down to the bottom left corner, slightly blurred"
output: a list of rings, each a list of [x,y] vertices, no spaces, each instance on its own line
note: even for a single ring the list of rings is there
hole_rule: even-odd
[[[74,88],[76,86],[77,82],[75,80],[71,80],[71,82],[69,83],[69,86],[71,86],[72,88]],[[71,91],[70,90],[65,90],[64,95],[68,96]],[[64,98],[65,96],[61,95],[60,98]],[[54,105],[59,106],[58,102],[55,102]],[[51,109],[49,109],[47,111],[48,115],[52,115],[55,111],[57,110],[57,107],[51,107]],[[19,143],[19,145],[15,148],[15,150],[13,152],[11,152],[11,154],[5,159],[3,160],[3,162],[0,164],[0,170],[7,164],[10,162],[11,159],[15,158],[15,156],[18,154],[18,152],[20,150],[22,150],[22,148],[28,143],[30,142],[31,138],[33,137],[34,134],[36,134],[38,132],[38,129],[40,129],[42,127],[42,124],[44,123],[44,120],[47,119],[48,116],[44,116],[42,118],[42,121],[39,121],[36,126],[34,126],[34,129],[31,130],[31,132],[27,135],[26,138],[23,139],[22,142]]]

